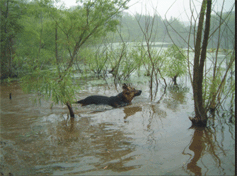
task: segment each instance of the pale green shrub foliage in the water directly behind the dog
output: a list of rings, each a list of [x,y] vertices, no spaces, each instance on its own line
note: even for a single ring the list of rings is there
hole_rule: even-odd
[[[130,49],[131,48],[131,49]],[[131,73],[141,66],[141,57],[136,55],[137,50],[126,43],[115,48],[101,45],[98,49],[85,48],[80,57],[85,58],[89,70],[96,75],[105,76],[110,71],[116,79],[127,79]]]

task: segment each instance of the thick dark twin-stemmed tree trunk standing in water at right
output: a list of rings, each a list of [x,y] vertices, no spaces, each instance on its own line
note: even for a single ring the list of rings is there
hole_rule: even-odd
[[[204,108],[204,101],[202,96],[202,83],[203,83],[203,68],[206,59],[206,49],[208,45],[209,31],[210,31],[210,19],[211,19],[211,0],[203,0],[198,31],[195,44],[195,56],[194,56],[194,70],[193,70],[193,96],[194,96],[194,108],[195,117],[190,118],[193,125],[196,126],[206,126],[207,124],[207,112]],[[203,44],[201,48],[202,41],[202,30],[204,23],[204,15],[206,12],[206,24],[203,37]]]

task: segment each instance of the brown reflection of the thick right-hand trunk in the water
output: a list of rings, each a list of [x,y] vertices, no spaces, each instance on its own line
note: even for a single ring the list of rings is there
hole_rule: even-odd
[[[186,152],[184,149],[183,155],[189,155],[190,159],[187,162],[187,165],[183,166],[183,169],[188,174],[195,174],[195,175],[206,175],[208,174],[210,169],[210,161],[204,162],[204,156],[210,155],[212,157],[212,160],[215,163],[216,168],[219,170],[220,174],[226,174],[225,169],[223,167],[223,158],[220,158],[221,155],[227,156],[226,150],[224,149],[223,141],[219,141],[219,133],[224,133],[223,130],[218,131],[217,128],[201,128],[201,127],[192,127],[194,130],[194,134],[192,137],[192,140],[190,144],[187,146],[189,149],[194,152],[192,155],[189,152]],[[222,136],[224,138],[224,134]],[[234,139],[232,139],[234,141]],[[210,160],[210,158],[208,158]],[[198,165],[198,162],[201,162],[201,164],[206,168],[206,171],[202,170],[203,167]],[[225,164],[225,163],[224,163]],[[233,163],[233,168],[234,168]],[[187,167],[185,167],[187,166]],[[205,173],[204,173],[205,172]]]

